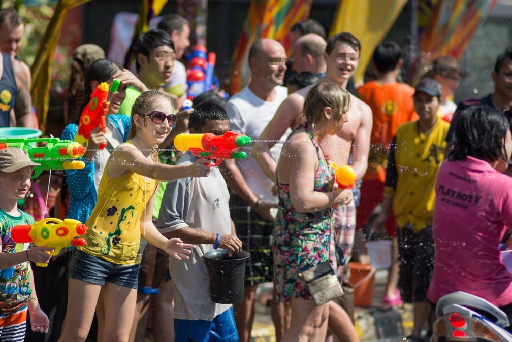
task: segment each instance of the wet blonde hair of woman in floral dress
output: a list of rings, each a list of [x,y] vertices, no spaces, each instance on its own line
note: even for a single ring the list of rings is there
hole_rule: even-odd
[[[304,117],[311,131],[325,120],[324,108],[331,107],[335,122],[342,119],[350,109],[350,94],[333,82],[322,82],[313,86],[304,100]]]

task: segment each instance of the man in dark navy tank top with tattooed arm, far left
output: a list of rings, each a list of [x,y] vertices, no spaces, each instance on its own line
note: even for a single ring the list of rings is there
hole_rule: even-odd
[[[35,126],[30,69],[15,58],[23,31],[23,21],[16,10],[8,8],[0,11],[0,127]]]

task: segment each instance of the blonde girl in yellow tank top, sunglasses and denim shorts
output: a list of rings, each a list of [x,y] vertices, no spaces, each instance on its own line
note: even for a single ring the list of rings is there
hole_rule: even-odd
[[[176,123],[174,100],[157,90],[142,93],[132,107],[128,141],[111,154],[98,188],[98,200],[86,222],[87,245],[70,261],[68,309],[59,341],[84,341],[94,311],[98,340],[127,341],[133,322],[139,271],[139,242],[188,259],[192,244],[168,240],[152,221],[159,180],[202,177],[208,159],[189,166],[159,164],[156,147]]]

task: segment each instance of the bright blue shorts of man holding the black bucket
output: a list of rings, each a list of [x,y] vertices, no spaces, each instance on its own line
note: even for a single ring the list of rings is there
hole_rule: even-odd
[[[233,308],[229,308],[213,321],[174,319],[175,340],[180,342],[237,342],[238,330],[234,323]]]

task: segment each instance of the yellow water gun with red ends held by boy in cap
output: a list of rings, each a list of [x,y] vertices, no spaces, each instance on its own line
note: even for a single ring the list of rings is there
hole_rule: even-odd
[[[60,250],[70,246],[83,246],[85,239],[77,238],[87,232],[87,226],[80,221],[67,218],[48,217],[34,224],[19,224],[12,227],[11,238],[16,243],[32,242],[36,246],[53,247],[51,255],[59,254]],[[36,263],[37,266],[46,267],[45,263]]]

